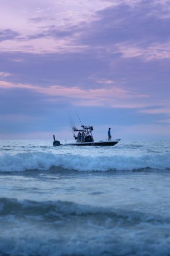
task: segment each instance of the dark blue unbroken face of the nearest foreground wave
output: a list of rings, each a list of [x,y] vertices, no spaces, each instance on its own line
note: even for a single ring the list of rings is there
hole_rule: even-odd
[[[23,217],[31,216],[42,217],[45,221],[55,221],[55,218],[63,220],[63,218],[73,218],[77,216],[87,217],[110,217],[114,221],[128,221],[134,224],[140,221],[145,222],[168,222],[170,224],[170,216],[159,216],[154,214],[147,214],[138,211],[125,210],[111,207],[98,207],[86,204],[77,204],[67,201],[42,201],[37,202],[33,200],[18,200],[16,198],[0,198],[0,215],[1,217]],[[39,218],[42,221],[42,218]]]

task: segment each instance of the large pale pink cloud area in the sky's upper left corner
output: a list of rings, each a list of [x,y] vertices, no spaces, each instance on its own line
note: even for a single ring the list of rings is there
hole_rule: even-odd
[[[67,30],[70,26],[82,26],[97,20],[97,11],[111,6],[109,1],[86,0],[83,4],[79,0],[72,1],[25,1],[16,0],[15,4],[1,4],[0,22],[1,29],[17,31],[21,36],[7,39],[1,43],[1,52],[26,52],[26,53],[56,53],[56,52],[80,52],[86,45],[76,42],[80,33],[63,38],[45,36],[43,38],[31,39],[30,36],[41,34],[45,27],[54,26],[56,31]],[[32,22],[32,25],[30,25]],[[53,22],[53,23],[52,23]],[[17,39],[17,40],[16,40]],[[22,39],[22,40],[21,40]]]

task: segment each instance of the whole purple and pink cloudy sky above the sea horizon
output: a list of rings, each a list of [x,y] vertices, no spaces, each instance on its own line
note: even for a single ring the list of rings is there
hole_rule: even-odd
[[[1,139],[170,139],[169,0],[0,4]]]

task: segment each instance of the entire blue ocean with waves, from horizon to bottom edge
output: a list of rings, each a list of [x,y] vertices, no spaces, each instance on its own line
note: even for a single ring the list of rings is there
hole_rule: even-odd
[[[0,256],[170,255],[170,141],[0,141]]]

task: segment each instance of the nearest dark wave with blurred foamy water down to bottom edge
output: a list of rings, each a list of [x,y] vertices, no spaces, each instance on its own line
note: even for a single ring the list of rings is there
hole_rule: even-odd
[[[62,201],[1,198],[0,204],[0,255],[169,253],[169,217]]]

